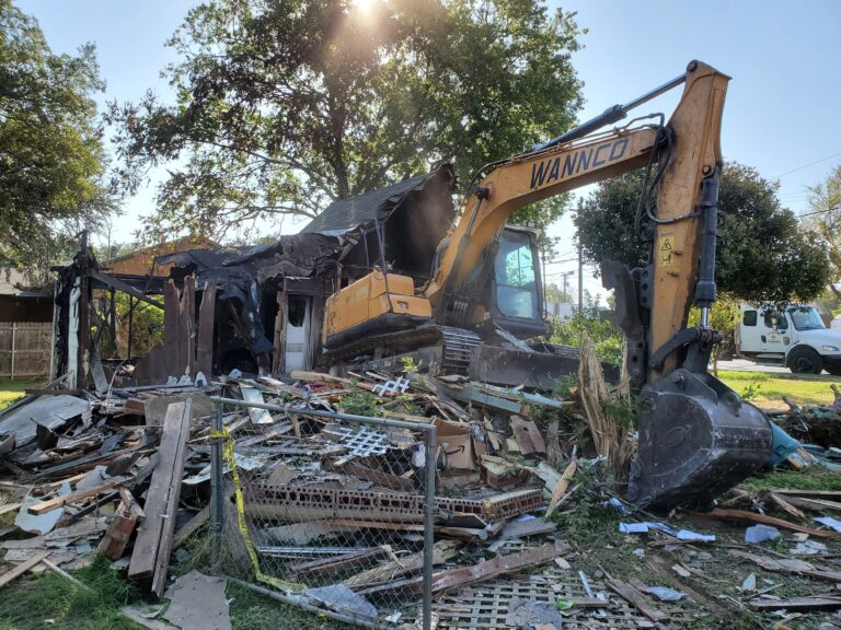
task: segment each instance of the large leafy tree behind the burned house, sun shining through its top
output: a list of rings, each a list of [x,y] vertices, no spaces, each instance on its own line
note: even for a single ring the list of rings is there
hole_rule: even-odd
[[[150,228],[220,236],[452,161],[484,164],[568,129],[572,13],[539,0],[218,0],[169,44],[175,104],[113,104],[131,189],[170,165]],[[565,197],[522,209],[548,224]]]

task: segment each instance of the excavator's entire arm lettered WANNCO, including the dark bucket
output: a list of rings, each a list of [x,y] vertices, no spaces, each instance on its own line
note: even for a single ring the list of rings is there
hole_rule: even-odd
[[[650,264],[634,270],[602,265],[604,285],[615,290],[627,368],[642,398],[627,495],[655,509],[708,503],[764,465],[772,448],[768,418],[707,373],[710,352],[721,341],[707,324],[716,293],[719,133],[728,81],[692,61],[682,80],[665,86],[683,83],[666,126],[594,137],[630,108],[613,107],[496,165],[465,200],[424,291],[439,320],[463,324],[483,281],[474,270],[486,267],[483,257],[518,208],[642,166],[650,174],[656,163],[656,210],[641,206],[654,224]],[[701,307],[701,326],[687,328],[693,301]]]

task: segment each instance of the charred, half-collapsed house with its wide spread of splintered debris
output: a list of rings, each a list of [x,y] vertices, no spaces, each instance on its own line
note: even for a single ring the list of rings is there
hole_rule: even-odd
[[[208,579],[189,573],[166,588],[192,539],[212,550],[206,572],[361,627],[677,628],[710,614],[687,576],[703,571],[702,553],[712,557],[711,518],[788,528],[810,542],[838,535],[841,523],[826,514],[838,492],[736,489],[700,525],[689,512],[667,523],[625,502],[613,482],[634,452],[631,423],[617,420],[630,405],[627,380],[609,385],[586,341],[578,385],[552,396],[412,365],[318,372],[327,296],[384,261],[418,284],[428,279],[456,213],[452,188],[443,167],[338,201],[272,244],[159,256],[165,277],[108,273],[83,244],[59,270],[53,380],[0,412],[0,513],[14,515],[0,529],[11,564],[0,584],[100,556],[172,598],[165,611],[124,615],[195,627],[180,587],[209,587]],[[119,326],[112,290],[130,296],[129,308],[162,311],[162,340],[147,355],[130,357],[130,341],[128,357],[102,355]],[[841,400],[786,420],[831,423],[839,413]],[[777,456],[792,466],[813,457],[796,442]],[[604,469],[607,481],[595,482]],[[819,525],[799,512],[809,508]],[[634,558],[668,555],[667,570],[594,570],[592,549],[560,523],[588,525],[604,511]],[[822,564],[774,570],[837,576],[831,549],[814,549]],[[774,562],[730,551],[751,565]],[[212,604],[221,622],[224,590],[214,593],[192,609]],[[745,593],[716,606],[797,604]]]

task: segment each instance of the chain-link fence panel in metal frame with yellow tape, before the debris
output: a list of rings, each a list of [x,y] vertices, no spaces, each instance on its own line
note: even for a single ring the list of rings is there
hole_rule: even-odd
[[[430,628],[435,424],[212,401],[217,572],[337,621]]]

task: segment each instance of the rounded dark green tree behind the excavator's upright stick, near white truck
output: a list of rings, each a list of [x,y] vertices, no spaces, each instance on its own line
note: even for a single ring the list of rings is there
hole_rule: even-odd
[[[641,171],[609,179],[578,205],[575,224],[591,262],[645,265],[648,243],[634,240]],[[718,290],[747,302],[807,302],[829,280],[820,238],[800,229],[782,207],[776,185],[749,166],[728,164],[719,188],[716,281]]]

